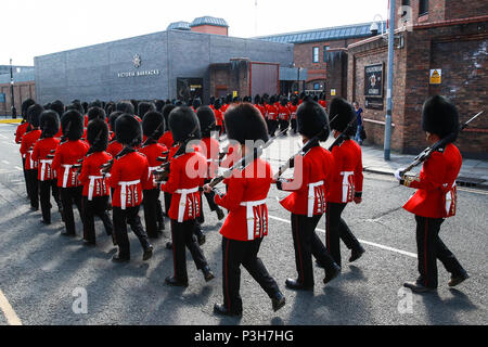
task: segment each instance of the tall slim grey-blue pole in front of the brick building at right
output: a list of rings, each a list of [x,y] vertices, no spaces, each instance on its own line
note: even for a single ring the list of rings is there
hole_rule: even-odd
[[[388,70],[386,88],[386,117],[385,117],[385,140],[384,159],[389,160],[391,144],[391,108],[393,108],[393,69],[394,69],[394,43],[395,43],[395,0],[389,0],[389,27],[388,27]]]

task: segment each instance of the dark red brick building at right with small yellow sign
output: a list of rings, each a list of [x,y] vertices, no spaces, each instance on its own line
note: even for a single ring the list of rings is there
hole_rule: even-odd
[[[449,98],[462,121],[486,107],[488,2],[396,0],[396,5],[409,5],[412,21],[395,31],[391,150],[413,154],[426,145],[420,124],[422,104],[429,95]],[[399,23],[400,16],[396,20]],[[347,98],[364,110],[368,141],[383,145],[387,36],[349,44],[347,57]],[[371,98],[364,81],[375,66],[383,67],[381,95]],[[457,144],[466,157],[487,158],[488,115],[473,121]]]

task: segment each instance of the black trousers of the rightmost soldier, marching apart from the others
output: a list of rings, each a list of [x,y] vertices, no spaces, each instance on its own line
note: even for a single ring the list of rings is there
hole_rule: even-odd
[[[463,267],[439,237],[444,219],[415,216],[415,221],[418,269],[420,273],[418,281],[424,286],[437,287],[437,259],[451,274],[463,274]]]

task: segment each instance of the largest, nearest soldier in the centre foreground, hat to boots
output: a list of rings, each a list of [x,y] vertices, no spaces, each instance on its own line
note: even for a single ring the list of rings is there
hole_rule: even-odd
[[[242,155],[252,153],[247,141],[268,141],[268,129],[259,111],[252,104],[242,103],[229,108],[224,116],[226,129],[230,140],[237,141]],[[261,158],[253,160],[244,170],[234,171],[224,180],[228,184],[226,195],[216,195],[215,202],[229,210],[220,229],[222,235],[222,291],[223,304],[215,304],[218,314],[241,316],[242,298],[241,265],[259,283],[271,298],[272,308],[279,310],[285,298],[273,278],[268,273],[261,259],[259,247],[268,234],[268,208],[266,198],[272,181],[269,163]],[[205,192],[211,188],[206,184]]]

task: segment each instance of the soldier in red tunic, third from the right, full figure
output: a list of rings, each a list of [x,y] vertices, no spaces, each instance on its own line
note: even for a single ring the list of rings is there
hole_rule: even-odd
[[[325,111],[316,102],[305,102],[297,111],[298,132],[303,143],[316,136],[320,141],[329,138],[329,121]],[[292,233],[295,248],[295,264],[298,279],[287,279],[286,286],[293,290],[313,290],[312,255],[325,266],[324,283],[341,272],[325,246],[316,234],[320,218],[325,213],[326,187],[332,177],[333,158],[321,147],[319,141],[300,157],[294,158],[294,179],[291,182],[278,180],[279,190],[292,191],[281,205],[292,213]],[[297,163],[300,163],[298,165]]]

